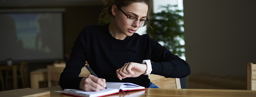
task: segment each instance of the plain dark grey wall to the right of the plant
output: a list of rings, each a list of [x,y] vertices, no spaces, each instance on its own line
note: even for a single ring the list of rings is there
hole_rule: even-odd
[[[256,1],[183,3],[186,61],[191,75],[246,78],[246,63],[256,63]]]

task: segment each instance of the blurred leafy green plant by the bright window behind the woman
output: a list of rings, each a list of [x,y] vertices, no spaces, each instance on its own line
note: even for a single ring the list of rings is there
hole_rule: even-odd
[[[179,15],[182,10],[170,10],[177,5],[161,6],[162,12],[153,13],[150,17],[150,26],[147,26],[147,34],[154,40],[157,40],[163,47],[166,47],[173,54],[179,57],[185,56],[183,16]],[[153,29],[153,30],[152,30]]]

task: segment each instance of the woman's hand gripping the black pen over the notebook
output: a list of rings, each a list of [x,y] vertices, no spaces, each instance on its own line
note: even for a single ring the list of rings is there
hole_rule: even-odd
[[[106,79],[99,79],[89,75],[80,81],[79,88],[84,91],[100,91],[106,87]]]

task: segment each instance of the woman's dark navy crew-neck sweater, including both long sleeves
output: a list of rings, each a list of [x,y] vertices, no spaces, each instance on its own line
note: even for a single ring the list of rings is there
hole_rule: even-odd
[[[149,34],[139,35],[134,33],[125,40],[114,38],[108,30],[108,25],[89,25],[83,28],[76,39],[70,59],[60,75],[59,85],[63,89],[79,89],[83,77],[79,77],[85,61],[99,78],[106,82],[130,82],[148,87],[150,79],[147,75],[119,80],[116,70],[125,63],[141,63],[151,60],[151,74],[170,78],[183,78],[190,75],[187,62],[174,55]]]

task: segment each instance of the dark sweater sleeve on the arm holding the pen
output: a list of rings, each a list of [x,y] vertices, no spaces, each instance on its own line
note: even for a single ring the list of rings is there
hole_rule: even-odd
[[[66,67],[60,75],[59,85],[62,89],[79,89],[80,81],[83,78],[79,77],[79,74],[86,63],[86,35],[84,29],[77,37],[70,58],[66,62]]]

